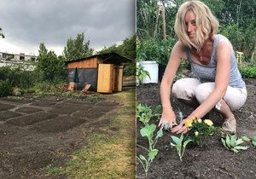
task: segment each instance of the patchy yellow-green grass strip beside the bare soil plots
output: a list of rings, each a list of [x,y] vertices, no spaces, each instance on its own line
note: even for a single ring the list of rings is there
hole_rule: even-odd
[[[49,175],[135,178],[135,90],[114,94],[113,98],[124,105],[109,118],[110,124],[94,127],[84,147],[72,154],[65,167],[46,167]]]

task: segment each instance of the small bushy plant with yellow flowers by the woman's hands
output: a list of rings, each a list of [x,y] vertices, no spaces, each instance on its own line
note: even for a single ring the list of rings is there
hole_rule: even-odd
[[[184,123],[185,126],[189,128],[189,139],[191,139],[196,146],[202,146],[207,136],[211,136],[218,131],[218,128],[213,126],[210,119],[202,120],[201,118],[190,118],[186,119]]]

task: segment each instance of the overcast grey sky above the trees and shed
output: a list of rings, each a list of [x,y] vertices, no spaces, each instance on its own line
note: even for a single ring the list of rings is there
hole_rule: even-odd
[[[135,33],[135,0],[0,0],[0,51],[38,55],[39,43],[61,55],[84,32],[96,50]]]

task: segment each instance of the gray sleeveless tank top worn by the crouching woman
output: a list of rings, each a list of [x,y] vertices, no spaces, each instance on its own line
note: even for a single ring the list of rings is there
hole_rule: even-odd
[[[218,46],[218,42],[222,39],[228,40],[222,35],[217,35],[213,42],[213,48],[212,48],[212,56],[211,61],[208,65],[201,65],[198,63],[195,63],[191,60],[191,54],[189,48],[186,48],[186,53],[188,55],[188,59],[190,62],[191,70],[195,74],[195,77],[198,78],[201,83],[206,82],[214,82],[215,76],[216,76],[216,49]],[[241,78],[241,73],[238,71],[237,64],[236,64],[236,55],[234,50],[232,50],[231,55],[231,61],[230,61],[230,83],[229,85],[234,88],[245,88],[246,85],[244,81]]]

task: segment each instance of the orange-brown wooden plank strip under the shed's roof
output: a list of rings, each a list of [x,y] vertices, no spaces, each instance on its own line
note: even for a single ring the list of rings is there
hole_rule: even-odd
[[[96,68],[101,63],[97,58],[91,58],[84,61],[73,61],[67,64],[67,68]]]

